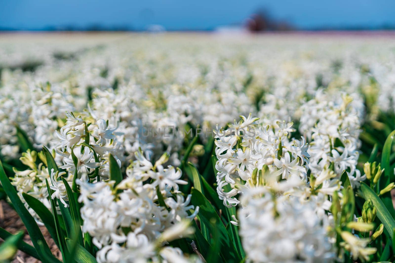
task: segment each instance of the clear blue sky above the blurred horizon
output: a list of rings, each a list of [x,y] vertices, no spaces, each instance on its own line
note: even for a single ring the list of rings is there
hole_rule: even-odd
[[[393,0],[2,0],[0,28],[128,26],[144,30],[207,30],[237,24],[259,8],[297,28],[395,25]]]

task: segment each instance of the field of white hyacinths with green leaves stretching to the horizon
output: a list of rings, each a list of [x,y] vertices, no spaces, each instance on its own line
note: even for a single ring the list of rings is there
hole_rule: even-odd
[[[395,260],[391,36],[4,35],[0,91],[0,262]]]

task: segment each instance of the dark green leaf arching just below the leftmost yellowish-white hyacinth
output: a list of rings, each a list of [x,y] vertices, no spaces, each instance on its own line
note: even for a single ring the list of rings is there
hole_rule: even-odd
[[[22,193],[22,196],[26,203],[30,206],[30,208],[33,209],[34,212],[36,212],[36,214],[40,217],[41,221],[48,229],[48,232],[51,235],[52,239],[55,241],[56,246],[59,246],[55,222],[53,220],[52,213],[47,209],[47,207],[45,207],[43,203],[41,203],[40,200],[36,199],[34,196],[26,193]]]

